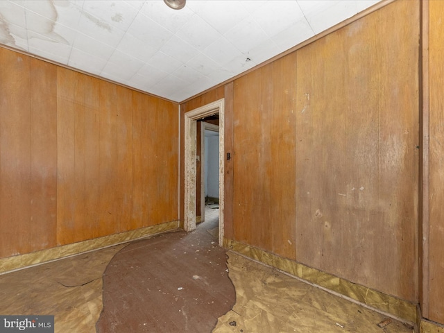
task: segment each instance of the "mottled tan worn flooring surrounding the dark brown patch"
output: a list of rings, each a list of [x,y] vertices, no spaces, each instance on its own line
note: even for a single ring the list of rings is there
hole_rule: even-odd
[[[217,218],[217,214],[217,210],[206,212],[207,221],[211,221],[212,216]],[[204,227],[205,223],[201,226]],[[217,228],[206,228],[206,231],[216,238]],[[101,311],[106,311],[106,307],[103,308],[103,294],[106,295],[106,290],[102,290],[103,274],[105,269],[108,272],[107,266],[113,257],[126,246],[131,244],[105,248],[0,275],[0,314],[53,314],[55,332],[96,332],[96,323],[100,323]],[[382,314],[300,282],[241,255],[228,252],[228,257],[229,277],[236,290],[236,303],[230,311],[219,317],[217,323],[212,323],[216,325],[212,331],[214,333],[413,332],[408,325],[386,320]],[[178,259],[183,262],[181,257]],[[109,273],[112,273],[112,270]],[[115,271],[112,274],[122,273]],[[130,286],[132,291],[121,290],[120,293],[137,293],[137,288],[143,286],[139,282],[135,280]],[[165,285],[169,285],[168,279],[165,280]],[[177,287],[176,291],[180,287]],[[212,286],[207,287],[211,293]],[[181,291],[183,290],[185,289]],[[138,306],[137,298],[128,303],[130,310],[137,309]],[[159,309],[162,319],[168,318],[171,308]],[[193,318],[189,317],[189,320],[192,321]],[[386,326],[377,325],[384,321]],[[142,325],[140,330],[131,328],[119,332],[185,332],[184,327],[173,331],[161,328],[143,330],[142,327],[146,326]],[[202,331],[197,331],[200,332]]]

